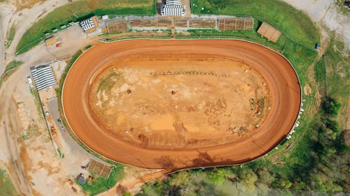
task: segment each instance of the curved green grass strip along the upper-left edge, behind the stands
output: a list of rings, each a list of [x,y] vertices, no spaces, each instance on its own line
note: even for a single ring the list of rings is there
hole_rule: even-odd
[[[78,22],[92,15],[155,15],[154,0],[81,0],[56,8],[38,20],[22,36],[16,54],[27,52],[45,38],[45,33],[61,29],[69,22]]]

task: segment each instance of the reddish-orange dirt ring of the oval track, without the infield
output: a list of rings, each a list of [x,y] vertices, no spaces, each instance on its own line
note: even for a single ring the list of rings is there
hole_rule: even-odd
[[[111,137],[92,118],[86,91],[94,73],[121,54],[206,54],[239,59],[264,77],[272,96],[269,115],[251,137],[199,149],[145,149]],[[155,65],[156,66],[156,65]],[[243,40],[123,40],[101,43],[74,63],[62,92],[66,121],[90,149],[120,163],[172,172],[192,167],[246,163],[265,155],[293,128],[300,110],[301,90],[295,71],[280,54]]]

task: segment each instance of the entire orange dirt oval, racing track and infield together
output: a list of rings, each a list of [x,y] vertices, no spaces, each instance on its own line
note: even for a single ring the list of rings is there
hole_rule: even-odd
[[[138,167],[232,165],[293,127],[300,85],[288,61],[241,40],[124,40],[80,56],[62,93],[71,130]]]

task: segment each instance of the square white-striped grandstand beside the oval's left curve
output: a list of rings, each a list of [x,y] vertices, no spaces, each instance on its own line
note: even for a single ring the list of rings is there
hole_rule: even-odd
[[[57,84],[51,66],[31,67],[30,72],[38,91]]]

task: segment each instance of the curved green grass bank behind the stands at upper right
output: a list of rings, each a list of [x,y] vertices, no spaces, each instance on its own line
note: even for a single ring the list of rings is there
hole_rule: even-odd
[[[282,1],[192,0],[190,2],[194,14],[253,16],[262,22],[272,24],[289,38],[307,47],[314,47],[320,40],[317,28],[311,19]]]

